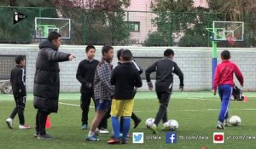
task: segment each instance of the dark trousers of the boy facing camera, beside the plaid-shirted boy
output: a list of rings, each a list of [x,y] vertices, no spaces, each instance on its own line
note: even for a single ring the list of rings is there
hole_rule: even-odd
[[[93,99],[93,92],[81,94],[80,107],[82,109],[82,118],[81,118],[82,124],[88,124],[88,113],[89,113],[89,109],[90,109],[90,99],[91,98]],[[95,103],[94,99],[93,99],[93,102],[94,102],[94,106],[96,109],[96,103]]]

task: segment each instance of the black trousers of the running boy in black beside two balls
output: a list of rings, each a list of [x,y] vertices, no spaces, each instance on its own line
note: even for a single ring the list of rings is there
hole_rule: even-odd
[[[159,110],[154,118],[154,124],[158,125],[160,120],[163,123],[167,122],[167,106],[169,104],[171,93],[169,92],[156,92],[157,98],[160,102]]]

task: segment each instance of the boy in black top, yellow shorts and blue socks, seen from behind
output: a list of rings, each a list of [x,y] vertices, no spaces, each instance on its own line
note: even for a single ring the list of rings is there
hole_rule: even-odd
[[[131,126],[131,113],[134,105],[134,87],[142,87],[142,79],[137,69],[131,64],[132,54],[129,49],[121,53],[122,65],[114,68],[110,83],[114,85],[114,94],[111,105],[111,122],[114,138],[108,144],[126,144],[126,138]],[[119,116],[123,117],[123,125],[119,125]],[[119,128],[123,127],[120,138]]]

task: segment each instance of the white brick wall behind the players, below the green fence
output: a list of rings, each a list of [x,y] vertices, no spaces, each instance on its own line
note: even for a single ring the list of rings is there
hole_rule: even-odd
[[[79,92],[80,84],[76,79],[76,71],[79,61],[84,59],[85,46],[61,45],[60,51],[72,53],[77,56],[76,60],[61,62],[61,91]],[[114,47],[114,50],[125,48],[131,49],[134,57],[159,57],[167,47]],[[96,46],[96,59],[101,59],[102,46]],[[174,60],[180,66],[184,73],[185,90],[205,90],[211,89],[212,84],[212,49],[211,48],[181,48],[172,47],[175,51]],[[218,55],[221,50],[218,49]],[[230,49],[231,60],[241,68],[245,77],[245,90],[256,90],[256,49]],[[26,55],[26,88],[31,92],[33,87],[33,77],[35,72],[35,63],[38,54],[38,44],[0,44],[0,55]],[[116,54],[116,53],[115,53]],[[219,56],[218,56],[219,61]],[[113,64],[117,60],[114,56]],[[146,61],[143,61],[146,63]],[[153,61],[147,62],[151,65]],[[143,64],[145,66],[145,64]],[[174,89],[178,88],[178,78],[174,77]],[[147,83],[143,81],[143,88],[147,90]]]

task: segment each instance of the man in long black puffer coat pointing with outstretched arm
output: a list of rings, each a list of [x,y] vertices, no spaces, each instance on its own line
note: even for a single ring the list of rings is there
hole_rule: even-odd
[[[36,73],[34,78],[34,107],[36,116],[36,134],[38,139],[53,139],[45,132],[46,118],[50,112],[58,111],[60,92],[60,68],[58,62],[73,60],[73,54],[58,52],[61,35],[50,32],[47,40],[39,44]]]

